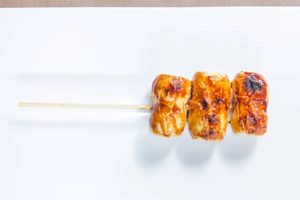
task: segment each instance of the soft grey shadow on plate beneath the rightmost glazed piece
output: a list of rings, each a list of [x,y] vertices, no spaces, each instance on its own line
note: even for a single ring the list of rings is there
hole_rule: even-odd
[[[257,136],[239,135],[231,130],[227,131],[224,139],[219,143],[221,157],[229,163],[241,162],[254,152],[257,140]]]

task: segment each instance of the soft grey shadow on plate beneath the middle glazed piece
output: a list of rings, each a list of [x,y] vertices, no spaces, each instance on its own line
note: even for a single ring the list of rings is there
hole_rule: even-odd
[[[176,154],[181,164],[187,167],[200,167],[207,163],[216,143],[202,139],[192,139],[184,130],[178,138]]]

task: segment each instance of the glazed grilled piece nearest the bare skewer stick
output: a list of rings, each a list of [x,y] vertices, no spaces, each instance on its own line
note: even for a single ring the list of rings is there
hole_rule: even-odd
[[[152,83],[152,113],[149,129],[164,137],[178,137],[186,123],[190,81],[183,77],[160,74]]]

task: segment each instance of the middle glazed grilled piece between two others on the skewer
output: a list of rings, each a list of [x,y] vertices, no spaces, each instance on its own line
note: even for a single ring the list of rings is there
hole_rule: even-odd
[[[231,88],[227,75],[196,72],[189,99],[188,130],[193,139],[220,141],[228,125]]]

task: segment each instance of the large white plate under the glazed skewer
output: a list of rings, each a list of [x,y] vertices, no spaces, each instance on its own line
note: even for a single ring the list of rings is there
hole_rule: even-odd
[[[299,7],[0,9],[0,199],[298,199]],[[262,73],[268,131],[152,135],[159,73]]]

